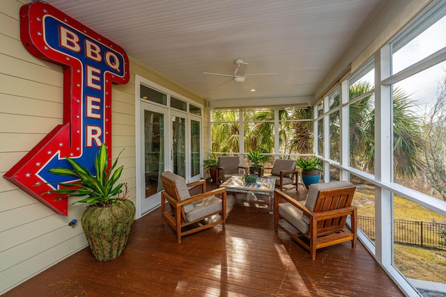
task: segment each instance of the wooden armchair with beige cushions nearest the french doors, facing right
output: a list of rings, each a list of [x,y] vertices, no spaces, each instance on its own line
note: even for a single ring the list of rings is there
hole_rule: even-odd
[[[205,180],[186,184],[184,177],[170,171],[162,172],[161,181],[164,186],[164,191],[161,192],[162,224],[165,225],[167,220],[167,223],[174,228],[178,243],[181,242],[181,236],[199,232],[218,224],[223,224],[225,227],[226,188],[217,188],[206,192]],[[203,193],[191,196],[188,187],[199,185],[201,185]],[[166,209],[166,202],[170,206],[169,210]],[[220,217],[217,216],[217,220],[213,218],[206,223],[199,223],[201,220],[215,215],[220,215]],[[197,227],[190,226],[195,223],[197,223]],[[186,226],[190,227],[184,228]]]

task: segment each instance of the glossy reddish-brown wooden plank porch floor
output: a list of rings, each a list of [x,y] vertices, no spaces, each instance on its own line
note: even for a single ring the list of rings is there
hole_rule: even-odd
[[[304,200],[305,192],[287,193]],[[3,296],[404,296],[359,241],[312,261],[274,231],[267,196],[228,194],[225,229],[177,243],[156,209],[134,221],[118,259],[96,262],[87,247]]]

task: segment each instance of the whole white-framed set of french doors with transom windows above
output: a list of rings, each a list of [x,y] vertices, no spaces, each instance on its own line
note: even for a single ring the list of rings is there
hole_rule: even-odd
[[[202,108],[187,98],[135,77],[137,218],[161,204],[161,174],[196,182],[203,159]],[[150,87],[149,87],[150,86]]]

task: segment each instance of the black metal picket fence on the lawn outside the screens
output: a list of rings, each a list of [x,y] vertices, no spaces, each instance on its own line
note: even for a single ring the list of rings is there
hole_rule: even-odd
[[[372,240],[375,239],[375,218],[358,216],[357,223],[364,234]],[[445,244],[442,244],[446,242],[446,239],[439,234],[442,230],[446,230],[445,223],[394,220],[393,229],[395,243],[413,244],[428,248],[446,248]]]

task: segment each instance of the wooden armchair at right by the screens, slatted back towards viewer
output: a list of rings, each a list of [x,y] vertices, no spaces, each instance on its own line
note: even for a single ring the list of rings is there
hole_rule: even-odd
[[[275,190],[275,230],[286,234],[307,249],[312,259],[316,250],[344,241],[356,246],[357,211],[351,206],[356,187],[350,182],[330,182],[309,186],[305,205]],[[279,203],[284,200],[284,203]],[[345,226],[351,216],[351,230]],[[291,225],[290,228],[288,224]],[[291,230],[297,230],[298,233]]]

